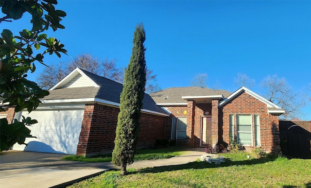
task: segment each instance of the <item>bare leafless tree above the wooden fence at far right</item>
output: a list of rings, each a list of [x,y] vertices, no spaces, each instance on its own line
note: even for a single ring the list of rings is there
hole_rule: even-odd
[[[285,110],[281,119],[289,120],[302,115],[301,108],[305,104],[305,97],[294,92],[285,78],[268,75],[261,81],[261,87],[266,99]]]

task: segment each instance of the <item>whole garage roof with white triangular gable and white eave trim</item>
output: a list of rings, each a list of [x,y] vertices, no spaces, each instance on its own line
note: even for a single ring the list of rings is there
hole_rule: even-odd
[[[42,103],[98,102],[120,106],[122,89],[120,83],[76,68],[50,89]],[[148,94],[144,95],[142,111],[168,115]]]

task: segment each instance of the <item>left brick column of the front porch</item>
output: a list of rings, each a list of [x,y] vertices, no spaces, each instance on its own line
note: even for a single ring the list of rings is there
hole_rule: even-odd
[[[187,146],[194,146],[195,101],[188,101],[187,106]]]

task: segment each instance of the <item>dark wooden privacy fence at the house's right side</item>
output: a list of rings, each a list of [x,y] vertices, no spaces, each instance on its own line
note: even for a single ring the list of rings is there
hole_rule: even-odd
[[[311,158],[311,121],[279,121],[282,154]]]

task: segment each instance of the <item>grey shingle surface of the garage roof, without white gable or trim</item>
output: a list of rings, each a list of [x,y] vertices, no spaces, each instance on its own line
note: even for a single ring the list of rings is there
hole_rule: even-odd
[[[62,99],[85,99],[85,98],[98,98],[113,103],[120,103],[120,94],[123,85],[115,81],[109,80],[102,76],[82,70],[83,73],[94,81],[99,87],[74,87],[74,88],[56,88],[50,90],[50,95],[44,97],[44,100],[62,100]],[[152,98],[144,95],[143,109],[151,110],[158,113],[167,114],[162,108],[157,106]]]

